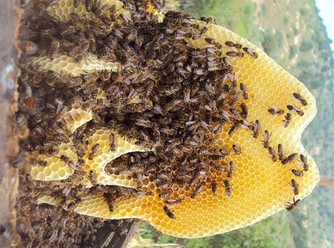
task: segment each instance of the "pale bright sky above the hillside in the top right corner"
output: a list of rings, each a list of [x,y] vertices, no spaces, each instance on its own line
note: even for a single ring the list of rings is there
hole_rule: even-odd
[[[326,26],[327,35],[333,41],[331,48],[334,51],[334,0],[315,0],[315,4],[320,10],[319,15]]]

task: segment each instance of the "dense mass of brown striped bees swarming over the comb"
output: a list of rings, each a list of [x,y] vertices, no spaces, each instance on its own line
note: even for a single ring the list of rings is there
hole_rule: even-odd
[[[86,236],[92,237],[103,221],[74,212],[87,195],[101,196],[111,213],[120,200],[156,196],[160,212],[169,221],[181,218],[174,209],[204,192],[232,198],[234,176],[242,166],[238,157],[244,147],[238,142],[227,147],[219,141],[222,137],[232,140],[240,130],[254,140],[263,134],[263,147],[273,162],[277,161],[270,146],[271,133],[262,132],[260,120],[248,115],[251,96],[234,67],[241,58],[257,61],[255,50],[236,41],[210,38],[207,32],[215,23],[212,18],[195,20],[168,11],[159,22],[158,16],[147,10],[150,4],[160,8],[162,1],[124,0],[123,7],[116,2],[32,0],[21,19],[19,111],[15,116],[21,151],[12,164],[20,168],[19,215],[37,215],[36,221],[22,223],[19,229],[32,242],[46,240],[51,244],[61,236],[76,245],[88,244]],[[50,9],[58,13],[64,6],[73,10],[67,14],[69,20],[49,15]],[[59,66],[45,69],[36,62],[44,57],[59,63],[59,57],[64,56],[73,61],[75,70]],[[97,61],[119,63],[121,70],[82,69],[90,64],[93,68]],[[293,95],[307,105],[299,93]],[[288,105],[287,109],[303,115],[296,106]],[[76,114],[81,124],[73,127],[68,113],[79,110],[91,117],[82,121],[85,118]],[[276,107],[268,112],[284,113]],[[287,127],[291,114],[283,121]],[[103,165],[103,173],[124,176],[134,181],[135,187],[106,186],[99,181],[102,172],[90,167],[105,153],[106,143],[96,138],[98,132],[108,136],[108,153],[117,153],[125,140],[142,148]],[[64,147],[71,152],[65,153]],[[51,159],[46,161],[46,157]],[[284,156],[283,146],[278,145],[282,166],[296,157],[297,153]],[[292,170],[297,177],[308,170],[306,156],[300,154],[300,159],[303,170]],[[58,161],[69,168],[68,178],[44,182],[29,174],[31,166],[55,167]],[[291,185],[298,194],[295,179]],[[53,197],[67,211],[36,206],[42,195]],[[289,203],[287,210],[299,202]],[[51,225],[45,225],[45,220]],[[113,221],[113,225],[120,223]],[[37,235],[37,226],[42,224],[45,231]],[[67,233],[68,229],[75,234]]]

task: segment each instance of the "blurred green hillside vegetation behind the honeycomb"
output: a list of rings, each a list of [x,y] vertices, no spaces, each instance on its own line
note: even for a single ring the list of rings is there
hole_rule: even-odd
[[[334,176],[334,59],[315,0],[167,0],[167,8],[195,18],[214,17],[218,24],[261,47],[311,90],[318,112],[302,142],[320,174]],[[334,188],[317,186],[300,208],[281,211],[247,228],[178,239],[144,224],[134,238],[149,239],[145,247],[329,248],[334,247],[333,223]]]

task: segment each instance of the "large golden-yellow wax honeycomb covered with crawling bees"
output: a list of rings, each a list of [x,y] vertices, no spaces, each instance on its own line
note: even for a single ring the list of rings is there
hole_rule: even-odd
[[[87,11],[83,1],[74,8],[72,0],[59,0],[48,11],[65,27],[77,25],[80,34],[102,17],[112,19],[116,4],[118,18],[99,42],[112,34],[117,59],[106,58],[102,46],[79,63],[64,53],[28,57],[21,66],[32,77],[24,87],[56,102],[39,119],[39,109],[26,101],[20,110],[33,112],[30,139],[21,140],[30,153],[29,175],[53,180],[62,190],[40,196],[40,203],[95,217],[139,218],[169,235],[195,238],[292,210],[312,192],[319,172],[300,136],[316,107],[301,82],[211,19],[167,12],[158,22],[160,14],[148,3],[101,4],[107,7]],[[95,14],[98,9],[104,12]],[[135,18],[135,10],[152,21],[137,19],[145,25],[134,32],[135,21],[128,18]],[[73,22],[71,13],[80,21]],[[117,31],[123,37],[118,43]],[[45,76],[45,85],[35,86],[33,74]],[[60,79],[73,76],[82,82]],[[50,87],[51,94],[45,92]],[[78,185],[89,192],[71,195]]]

